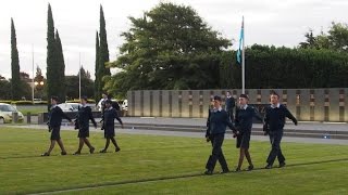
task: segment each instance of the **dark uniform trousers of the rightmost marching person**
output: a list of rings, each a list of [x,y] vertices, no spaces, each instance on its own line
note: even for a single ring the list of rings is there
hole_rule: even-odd
[[[283,129],[277,131],[270,131],[270,140],[272,144],[272,150],[270,152],[268,164],[273,165],[275,158],[278,158],[279,164],[285,161],[285,157],[283,156],[282,150],[281,150],[281,141],[283,138]]]

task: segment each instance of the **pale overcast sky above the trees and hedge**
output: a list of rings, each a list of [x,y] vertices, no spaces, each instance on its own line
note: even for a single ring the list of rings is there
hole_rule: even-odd
[[[95,73],[96,30],[99,5],[107,22],[110,60],[117,56],[122,31],[129,28],[127,16],[139,17],[160,0],[8,0],[0,6],[0,75],[11,77],[11,17],[14,20],[21,72],[32,75],[35,66],[46,74],[47,6],[51,3],[54,26],[60,32],[65,74],[76,75],[79,53],[83,66]],[[169,1],[163,1],[169,2]],[[171,0],[192,6],[214,30],[238,40],[245,16],[246,46],[253,43],[295,47],[312,28],[324,31],[331,22],[348,23],[346,0]],[[234,41],[234,48],[237,42]]]

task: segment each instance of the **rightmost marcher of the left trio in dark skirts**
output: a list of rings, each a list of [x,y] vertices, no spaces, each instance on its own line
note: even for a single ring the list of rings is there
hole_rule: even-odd
[[[116,140],[115,140],[115,119],[119,120],[121,127],[123,128],[123,122],[117,115],[117,110],[111,106],[111,100],[105,101],[105,110],[103,115],[103,130],[104,130],[104,138],[107,139],[105,147],[100,151],[100,153],[107,153],[107,150],[110,144],[110,140],[112,141],[113,145],[115,146],[115,152],[119,152],[121,148],[119,147]]]

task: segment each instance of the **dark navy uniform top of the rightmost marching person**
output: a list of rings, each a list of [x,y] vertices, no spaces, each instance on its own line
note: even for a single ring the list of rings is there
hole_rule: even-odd
[[[285,107],[285,105],[279,104],[277,107],[272,107],[271,105],[266,107],[264,115],[265,130],[269,131],[281,131],[285,125],[285,117],[291,119],[294,123],[297,125],[297,119],[291,115],[291,113]]]

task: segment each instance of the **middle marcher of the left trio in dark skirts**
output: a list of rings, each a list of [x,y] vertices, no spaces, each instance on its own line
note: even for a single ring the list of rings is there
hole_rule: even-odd
[[[79,107],[77,113],[77,118],[76,118],[77,127],[75,127],[78,129],[77,136],[79,138],[79,144],[78,144],[78,150],[74,153],[74,155],[80,154],[80,151],[83,150],[83,146],[85,143],[89,147],[90,154],[95,152],[95,147],[91,146],[87,138],[89,136],[89,120],[91,120],[95,128],[97,128],[97,122],[91,113],[91,108],[87,106],[87,96],[83,96],[80,99],[80,104],[82,104],[82,107]]]

